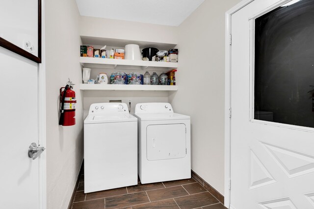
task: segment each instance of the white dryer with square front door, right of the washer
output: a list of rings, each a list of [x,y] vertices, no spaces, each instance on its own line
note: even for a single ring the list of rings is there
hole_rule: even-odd
[[[141,183],[191,178],[190,116],[169,103],[136,104]]]

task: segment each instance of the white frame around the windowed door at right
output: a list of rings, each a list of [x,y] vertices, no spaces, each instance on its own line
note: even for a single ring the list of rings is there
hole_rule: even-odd
[[[225,207],[230,207],[231,185],[231,16],[254,0],[242,0],[226,12],[225,29]],[[279,1],[279,0],[278,0]],[[282,3],[290,0],[283,0]]]

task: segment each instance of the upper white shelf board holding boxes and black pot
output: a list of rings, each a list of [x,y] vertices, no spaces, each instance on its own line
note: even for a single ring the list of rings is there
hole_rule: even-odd
[[[128,59],[109,59],[95,57],[80,57],[79,62],[88,68],[120,68],[121,66],[137,66],[142,70],[148,67],[157,68],[178,68],[177,62],[154,62],[143,60],[128,60]],[[162,70],[162,69],[161,69]]]

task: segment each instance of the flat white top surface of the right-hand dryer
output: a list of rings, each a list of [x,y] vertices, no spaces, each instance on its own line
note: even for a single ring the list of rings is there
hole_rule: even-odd
[[[178,113],[137,113],[134,114],[140,121],[184,120],[190,119],[188,115]]]

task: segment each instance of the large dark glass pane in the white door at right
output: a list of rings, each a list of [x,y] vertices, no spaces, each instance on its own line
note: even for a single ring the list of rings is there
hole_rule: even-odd
[[[314,0],[255,20],[254,119],[314,128]]]

